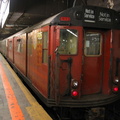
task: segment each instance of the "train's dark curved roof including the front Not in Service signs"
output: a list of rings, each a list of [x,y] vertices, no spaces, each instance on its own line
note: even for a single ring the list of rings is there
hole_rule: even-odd
[[[112,9],[96,6],[76,6],[64,10],[38,24],[10,36],[31,32],[45,25],[69,25],[90,28],[120,29],[120,14]]]

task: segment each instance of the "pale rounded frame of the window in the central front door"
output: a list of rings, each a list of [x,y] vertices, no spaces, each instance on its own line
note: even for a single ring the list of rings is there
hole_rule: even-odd
[[[88,33],[88,34],[99,34],[100,35],[99,54],[86,54],[86,41],[88,41],[88,40],[86,40],[86,33]],[[103,42],[103,35],[99,31],[98,32],[97,31],[95,31],[95,32],[90,32],[90,31],[85,32],[85,34],[84,34],[84,55],[87,56],[87,57],[99,57],[99,56],[101,56],[102,55],[102,42]]]

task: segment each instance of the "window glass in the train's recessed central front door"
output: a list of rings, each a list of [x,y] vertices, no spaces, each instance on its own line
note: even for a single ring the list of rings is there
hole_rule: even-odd
[[[85,33],[85,55],[100,56],[102,47],[101,33]]]

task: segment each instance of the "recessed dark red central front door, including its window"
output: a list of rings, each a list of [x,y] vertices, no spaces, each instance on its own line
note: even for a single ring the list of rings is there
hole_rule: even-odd
[[[103,42],[101,31],[84,32],[82,94],[101,92],[103,74]]]

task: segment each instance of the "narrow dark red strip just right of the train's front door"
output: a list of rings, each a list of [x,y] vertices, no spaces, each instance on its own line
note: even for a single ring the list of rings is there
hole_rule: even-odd
[[[110,78],[110,71],[111,71],[111,40],[112,40],[112,33],[111,30],[104,31],[104,66],[103,66],[103,83],[102,83],[102,92],[103,94],[113,94],[111,89],[111,78]]]

